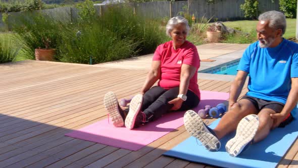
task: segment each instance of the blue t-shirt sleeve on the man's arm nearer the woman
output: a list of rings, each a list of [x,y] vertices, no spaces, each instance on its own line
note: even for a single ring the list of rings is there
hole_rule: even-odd
[[[252,45],[246,48],[246,50],[244,51],[240,59],[237,70],[250,73],[251,56],[254,53],[254,50],[255,50],[255,47],[253,47]]]

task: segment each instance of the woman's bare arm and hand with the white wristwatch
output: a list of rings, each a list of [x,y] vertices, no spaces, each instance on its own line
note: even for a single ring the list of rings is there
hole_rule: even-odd
[[[196,73],[196,67],[192,65],[182,64],[180,73],[179,94],[186,95],[189,86],[189,80],[194,75],[194,73]],[[178,110],[181,107],[183,100],[181,98],[175,98],[168,103],[174,104],[171,110]]]

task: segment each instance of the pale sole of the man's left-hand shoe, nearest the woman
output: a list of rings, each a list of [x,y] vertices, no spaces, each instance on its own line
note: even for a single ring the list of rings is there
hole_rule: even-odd
[[[200,140],[207,150],[219,150],[221,146],[220,141],[207,129],[202,118],[196,112],[192,110],[186,111],[183,120],[187,132]]]

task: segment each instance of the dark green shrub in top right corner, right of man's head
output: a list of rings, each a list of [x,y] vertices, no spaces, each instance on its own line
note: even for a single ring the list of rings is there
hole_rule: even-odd
[[[279,8],[287,18],[296,18],[297,0],[279,0]]]

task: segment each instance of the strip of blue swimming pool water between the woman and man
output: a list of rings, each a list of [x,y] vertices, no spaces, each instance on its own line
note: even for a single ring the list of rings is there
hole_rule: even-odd
[[[236,75],[237,74],[236,69],[237,69],[238,63],[239,63],[239,60],[234,60],[232,62],[216,66],[212,69],[208,69],[207,71],[205,71],[203,73]]]

